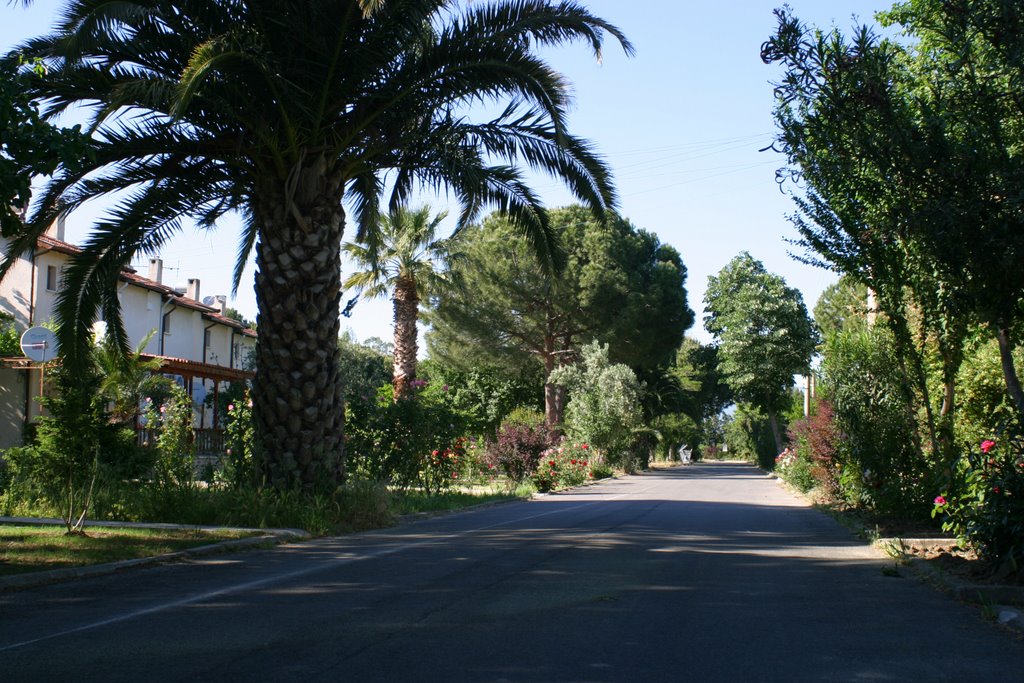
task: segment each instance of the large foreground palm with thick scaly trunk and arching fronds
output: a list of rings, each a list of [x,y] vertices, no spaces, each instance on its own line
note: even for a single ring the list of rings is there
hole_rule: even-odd
[[[520,165],[563,179],[596,212],[613,190],[566,130],[568,84],[536,49],[582,40],[600,55],[605,33],[632,49],[573,2],[67,0],[55,32],[20,51],[47,67],[32,94],[49,116],[92,113],[93,150],[58,169],[11,253],[59,213],[119,193],[59,298],[74,365],[97,306],[127,347],[114,284],[136,253],[157,252],[185,221],[212,228],[241,213],[234,286],[255,251],[265,474],[280,487],[334,481],[346,210],[372,246],[385,187],[391,208],[417,187],[447,188],[461,223],[504,209],[557,267]],[[480,102],[501,113],[477,121]]]

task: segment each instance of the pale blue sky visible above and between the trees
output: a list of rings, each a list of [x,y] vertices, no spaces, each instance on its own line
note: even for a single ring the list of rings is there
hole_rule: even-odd
[[[773,136],[770,82],[778,76],[762,63],[761,43],[774,28],[780,1],[584,0],[595,14],[621,28],[636,47],[627,58],[612,43],[601,63],[583,46],[550,53],[573,83],[572,131],[594,141],[611,165],[620,211],[655,232],[682,254],[687,292],[697,323],[688,334],[709,339],[700,325],[709,275],[740,251],[801,290],[808,308],[836,275],[788,255],[796,237],[785,219],[792,200],[779,191],[774,172],[780,156],[758,152]],[[847,30],[857,17],[870,22],[885,0],[790,0],[804,22]],[[45,33],[60,0],[32,7],[0,6],[0,48]],[[571,201],[557,183],[537,188],[552,207]],[[431,201],[438,208],[442,199]],[[92,206],[68,221],[68,239],[81,242],[102,212]],[[186,229],[161,256],[165,282],[200,278],[202,294],[228,294],[238,238],[237,221],[214,233]],[[144,268],[142,269],[144,273]],[[229,305],[255,316],[252,268]],[[360,302],[343,322],[362,340],[391,337],[387,302]]]

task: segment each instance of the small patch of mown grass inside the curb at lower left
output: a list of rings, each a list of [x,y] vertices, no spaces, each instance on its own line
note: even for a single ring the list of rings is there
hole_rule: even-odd
[[[62,526],[0,525],[0,577],[153,557],[252,531],[91,527],[69,536]]]

